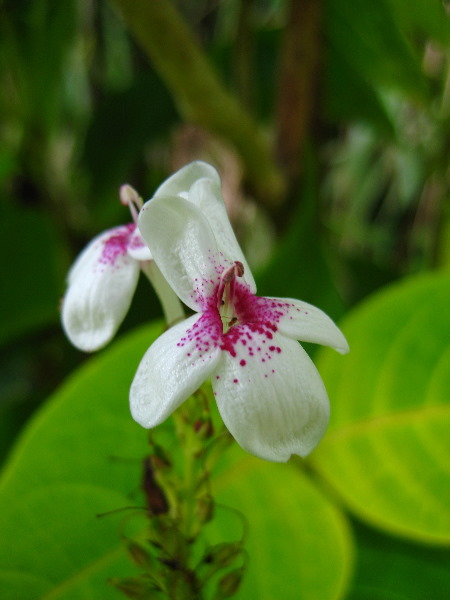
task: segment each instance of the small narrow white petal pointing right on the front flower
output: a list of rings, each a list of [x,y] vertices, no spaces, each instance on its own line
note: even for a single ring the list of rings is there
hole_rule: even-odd
[[[344,334],[320,308],[291,298],[266,298],[280,311],[278,330],[295,340],[330,346],[341,354],[349,351]]]

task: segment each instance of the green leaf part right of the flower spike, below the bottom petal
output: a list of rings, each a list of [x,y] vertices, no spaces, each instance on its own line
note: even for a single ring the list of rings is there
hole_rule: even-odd
[[[343,514],[295,462],[267,463],[236,449],[240,458],[217,484],[217,500],[247,521],[248,573],[236,598],[343,598],[353,552]],[[228,518],[227,518],[228,517]],[[218,527],[230,520],[223,510]]]

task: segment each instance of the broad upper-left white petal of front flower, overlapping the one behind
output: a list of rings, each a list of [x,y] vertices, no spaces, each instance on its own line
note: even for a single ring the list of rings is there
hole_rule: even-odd
[[[139,229],[179,298],[193,310],[204,310],[217,286],[223,260],[200,209],[180,197],[158,196],[144,204]]]

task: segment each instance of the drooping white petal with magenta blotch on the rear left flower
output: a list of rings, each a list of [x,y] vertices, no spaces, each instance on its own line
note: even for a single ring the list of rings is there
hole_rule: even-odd
[[[95,238],[69,272],[62,323],[80,350],[107,344],[123,321],[136,289],[139,263],[127,253],[130,226],[116,227]]]

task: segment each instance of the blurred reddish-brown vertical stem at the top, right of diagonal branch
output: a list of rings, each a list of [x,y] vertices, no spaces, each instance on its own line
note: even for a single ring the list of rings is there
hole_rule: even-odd
[[[291,0],[280,56],[276,154],[290,186],[317,106],[321,51],[320,0]]]

